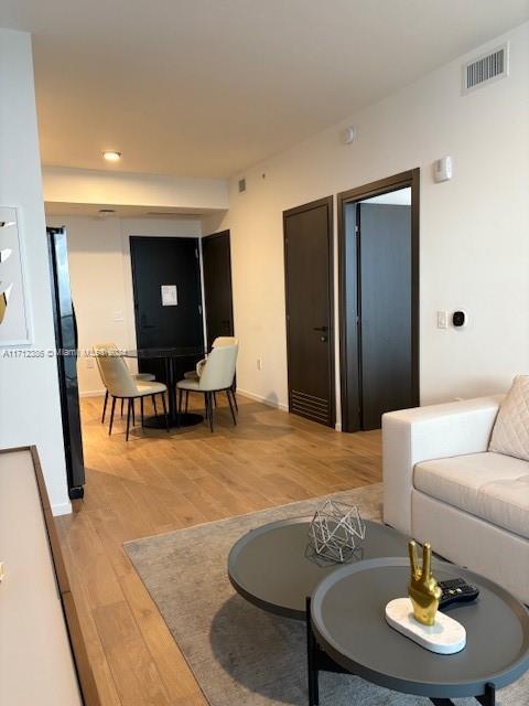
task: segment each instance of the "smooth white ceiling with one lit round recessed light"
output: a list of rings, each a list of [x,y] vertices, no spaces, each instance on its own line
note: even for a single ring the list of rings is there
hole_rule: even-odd
[[[0,0],[0,26],[34,33],[45,164],[212,178],[528,18],[529,0]]]

